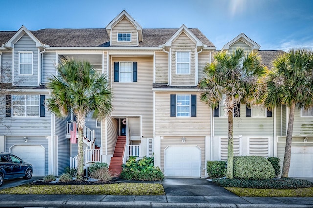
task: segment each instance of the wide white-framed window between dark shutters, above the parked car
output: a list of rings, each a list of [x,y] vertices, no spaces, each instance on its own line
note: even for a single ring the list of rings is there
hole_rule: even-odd
[[[12,95],[13,116],[38,117],[39,95]]]

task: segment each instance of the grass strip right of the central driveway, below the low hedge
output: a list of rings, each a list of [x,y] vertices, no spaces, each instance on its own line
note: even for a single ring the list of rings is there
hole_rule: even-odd
[[[258,189],[224,187],[238,196],[253,197],[313,197],[313,187],[296,189]]]

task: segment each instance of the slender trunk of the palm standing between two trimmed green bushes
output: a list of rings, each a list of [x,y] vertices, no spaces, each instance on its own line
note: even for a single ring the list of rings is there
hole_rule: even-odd
[[[226,178],[234,178],[234,131],[233,131],[233,111],[228,111],[228,156]]]

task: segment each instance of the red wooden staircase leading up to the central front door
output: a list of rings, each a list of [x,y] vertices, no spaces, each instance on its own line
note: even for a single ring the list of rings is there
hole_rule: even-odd
[[[126,143],[126,136],[118,136],[113,157],[111,158],[109,171],[112,171],[117,176],[122,172],[121,165],[123,164],[124,146]]]

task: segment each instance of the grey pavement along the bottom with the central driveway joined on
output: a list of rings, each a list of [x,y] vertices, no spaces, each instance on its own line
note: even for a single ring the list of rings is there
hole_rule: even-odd
[[[122,183],[134,182],[120,180]],[[50,208],[313,208],[313,197],[239,197],[201,178],[165,178],[166,195],[10,195],[0,194],[0,207]]]

